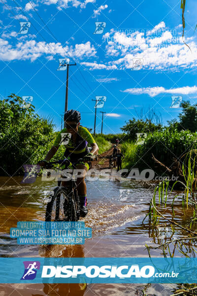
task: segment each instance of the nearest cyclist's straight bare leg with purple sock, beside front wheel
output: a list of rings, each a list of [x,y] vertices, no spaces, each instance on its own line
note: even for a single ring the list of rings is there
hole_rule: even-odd
[[[85,217],[88,213],[87,210],[87,189],[85,183],[85,175],[88,171],[88,166],[85,164],[77,164],[77,169],[83,170],[83,173],[79,173],[79,177],[77,177],[76,184],[77,184],[77,191],[79,194],[80,199],[80,216]]]

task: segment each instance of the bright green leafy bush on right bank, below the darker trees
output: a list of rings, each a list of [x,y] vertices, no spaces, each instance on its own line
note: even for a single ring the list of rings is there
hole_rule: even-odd
[[[139,169],[151,168],[155,170],[155,163],[152,159],[154,156],[170,167],[173,163],[173,158],[177,158],[181,162],[183,156],[192,148],[197,148],[197,134],[190,131],[178,132],[170,129],[165,129],[162,132],[154,132],[149,134],[143,145],[135,145],[132,142],[122,144],[121,152],[124,154],[123,167]],[[161,168],[158,166],[158,172]]]

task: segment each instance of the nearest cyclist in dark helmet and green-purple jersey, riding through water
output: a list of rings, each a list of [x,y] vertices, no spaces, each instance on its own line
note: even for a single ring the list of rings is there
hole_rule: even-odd
[[[64,121],[66,121],[66,128],[61,130],[56,137],[53,147],[49,150],[44,160],[39,162],[40,166],[45,166],[45,163],[55,155],[61,145],[62,138],[65,133],[71,134],[71,138],[66,142],[64,156],[75,162],[76,168],[83,170],[84,174],[77,178],[77,191],[80,199],[80,216],[85,217],[88,214],[87,209],[87,189],[85,183],[85,174],[89,170],[88,162],[91,161],[93,155],[99,150],[93,136],[87,128],[80,125],[81,114],[76,110],[69,110],[65,112]],[[90,152],[88,143],[91,145]],[[77,160],[83,158],[84,161]],[[62,182],[62,186],[66,185],[66,181]]]

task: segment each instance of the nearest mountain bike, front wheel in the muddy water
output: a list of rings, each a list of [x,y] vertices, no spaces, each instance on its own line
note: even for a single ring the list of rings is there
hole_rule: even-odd
[[[55,168],[58,170],[66,170],[66,169],[75,169],[76,163],[79,161],[83,161],[83,158],[80,158],[75,163],[71,163],[68,159],[58,160],[53,162],[47,162],[45,165],[46,169],[55,168],[55,164],[64,165],[64,169]],[[91,159],[92,161],[92,159]],[[91,164],[91,163],[90,163]],[[77,192],[77,185],[74,180],[72,173],[66,173],[66,186],[61,185],[61,181],[58,181],[58,186],[56,186],[52,194],[50,195],[50,201],[46,206],[46,214],[45,221],[54,221],[54,222],[62,222],[62,221],[78,221],[80,218],[80,203],[79,196]],[[64,178],[64,176],[62,176]]]

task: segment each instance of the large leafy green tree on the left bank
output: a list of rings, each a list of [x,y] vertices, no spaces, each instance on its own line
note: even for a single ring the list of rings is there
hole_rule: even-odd
[[[0,101],[0,175],[19,175],[24,164],[36,164],[52,146],[53,123],[24,108],[23,100],[11,94]]]

